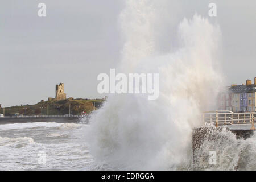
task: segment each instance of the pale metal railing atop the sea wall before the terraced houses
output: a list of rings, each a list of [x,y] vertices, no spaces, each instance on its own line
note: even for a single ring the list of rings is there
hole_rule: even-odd
[[[256,113],[234,113],[229,110],[204,111],[203,122],[218,125],[244,125],[251,124],[251,130],[254,128],[254,118]]]

